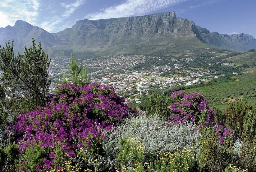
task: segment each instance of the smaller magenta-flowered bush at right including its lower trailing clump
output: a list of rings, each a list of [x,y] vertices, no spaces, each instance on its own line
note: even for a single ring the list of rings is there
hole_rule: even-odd
[[[171,104],[171,122],[168,124],[179,124],[187,121],[198,124],[201,127],[215,127],[215,134],[218,136],[219,144],[234,133],[231,129],[225,128],[223,123],[214,123],[214,111],[209,108],[208,101],[199,93],[172,92],[175,103]]]

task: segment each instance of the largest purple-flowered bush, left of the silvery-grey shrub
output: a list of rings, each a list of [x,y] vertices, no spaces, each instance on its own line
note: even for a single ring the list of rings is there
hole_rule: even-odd
[[[60,85],[56,94],[49,96],[45,107],[17,116],[11,129],[17,135],[21,164],[19,168],[36,168],[37,171],[61,170],[67,159],[88,157],[103,139],[103,130],[115,127],[120,119],[134,113],[120,98],[114,88],[93,83],[76,87]],[[39,150],[34,150],[36,149]],[[38,158],[29,160],[28,152],[39,152]],[[95,151],[94,151],[95,153]],[[78,156],[79,154],[79,156]],[[83,157],[82,157],[83,158]],[[31,167],[33,161],[36,163]],[[97,160],[96,160],[97,161]],[[26,164],[30,164],[29,167]]]

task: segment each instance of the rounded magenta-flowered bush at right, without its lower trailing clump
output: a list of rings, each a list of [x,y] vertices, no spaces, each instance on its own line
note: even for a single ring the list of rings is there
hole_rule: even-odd
[[[207,119],[205,123],[214,121],[214,112],[209,109],[208,101],[199,93],[172,92],[175,103],[171,104],[171,123],[199,122],[199,118],[205,111]]]

